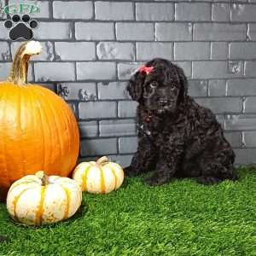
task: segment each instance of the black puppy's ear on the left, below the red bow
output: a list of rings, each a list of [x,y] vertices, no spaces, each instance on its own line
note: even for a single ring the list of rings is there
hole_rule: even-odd
[[[135,73],[129,80],[126,89],[133,101],[139,102],[140,98],[143,96],[144,80],[143,74],[139,72]]]

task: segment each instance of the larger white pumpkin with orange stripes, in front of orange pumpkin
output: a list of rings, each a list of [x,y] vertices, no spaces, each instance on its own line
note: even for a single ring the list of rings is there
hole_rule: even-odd
[[[48,177],[40,171],[12,184],[7,195],[7,209],[16,222],[51,224],[73,216],[81,201],[82,191],[73,179]]]

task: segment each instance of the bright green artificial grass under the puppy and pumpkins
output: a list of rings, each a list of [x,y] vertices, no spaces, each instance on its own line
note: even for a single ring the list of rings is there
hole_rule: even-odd
[[[240,180],[149,187],[127,178],[108,195],[84,193],[79,212],[40,228],[15,224],[0,204],[0,255],[256,255],[256,168]]]

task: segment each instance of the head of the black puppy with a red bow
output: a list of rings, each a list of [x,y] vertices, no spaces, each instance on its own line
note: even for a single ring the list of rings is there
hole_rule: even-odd
[[[131,77],[127,90],[145,108],[173,113],[186,100],[188,83],[180,67],[171,61],[154,59]]]

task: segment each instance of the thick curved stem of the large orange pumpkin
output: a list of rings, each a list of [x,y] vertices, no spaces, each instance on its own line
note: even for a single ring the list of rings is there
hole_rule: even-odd
[[[41,44],[36,41],[28,41],[21,44],[15,53],[8,81],[14,84],[27,84],[29,59],[32,55],[40,54],[41,49]]]

